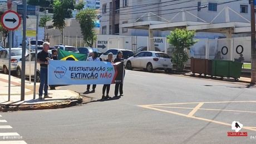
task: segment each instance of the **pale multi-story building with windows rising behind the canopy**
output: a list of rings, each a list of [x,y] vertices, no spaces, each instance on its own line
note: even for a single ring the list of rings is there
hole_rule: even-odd
[[[230,22],[245,22],[250,20],[250,5],[248,0],[198,0],[198,1],[169,1],[169,0],[101,0],[100,3],[101,34],[116,35],[149,35],[148,30],[120,28],[120,24],[159,21],[159,22],[205,22],[214,23],[225,21],[226,10]],[[182,10],[189,12],[184,15]],[[221,13],[220,13],[221,12]],[[245,19],[243,19],[242,17]],[[218,18],[215,18],[218,17]],[[170,31],[154,31],[154,36],[164,37]]]

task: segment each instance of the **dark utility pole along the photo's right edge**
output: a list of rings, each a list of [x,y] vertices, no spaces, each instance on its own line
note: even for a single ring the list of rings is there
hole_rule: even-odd
[[[251,78],[250,83],[255,84],[256,82],[256,49],[255,49],[255,8],[254,1],[250,0],[250,27],[251,27],[251,54],[252,54],[252,62],[251,62]]]

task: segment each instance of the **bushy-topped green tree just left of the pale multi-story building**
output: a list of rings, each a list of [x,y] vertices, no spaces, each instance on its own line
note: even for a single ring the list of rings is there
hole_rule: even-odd
[[[92,47],[95,40],[95,20],[97,18],[96,11],[94,9],[85,9],[77,13],[76,20],[80,24],[81,32],[83,35],[83,41]]]

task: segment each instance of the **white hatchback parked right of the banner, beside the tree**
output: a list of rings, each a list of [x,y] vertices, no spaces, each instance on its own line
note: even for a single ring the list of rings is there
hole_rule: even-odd
[[[168,54],[163,52],[143,51],[127,59],[126,68],[142,68],[149,72],[155,69],[165,70],[170,73],[173,69],[173,63]]]

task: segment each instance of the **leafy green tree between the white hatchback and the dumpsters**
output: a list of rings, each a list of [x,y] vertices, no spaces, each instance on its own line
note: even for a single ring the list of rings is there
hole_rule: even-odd
[[[177,70],[183,70],[189,56],[186,49],[190,49],[192,45],[197,43],[194,40],[195,30],[189,31],[188,29],[175,29],[166,36],[168,43],[174,46],[173,49],[173,62],[177,65]]]

